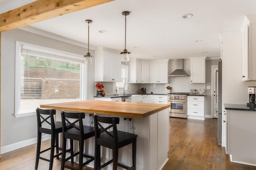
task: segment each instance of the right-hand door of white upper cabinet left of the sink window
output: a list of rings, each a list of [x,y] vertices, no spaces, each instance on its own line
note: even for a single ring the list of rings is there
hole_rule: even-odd
[[[120,57],[112,57],[112,81],[121,82],[121,59]]]

